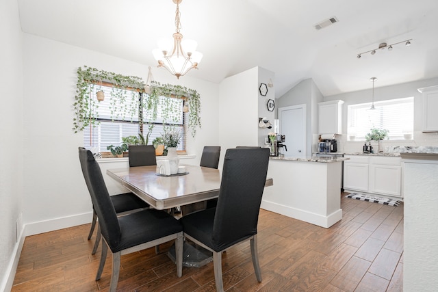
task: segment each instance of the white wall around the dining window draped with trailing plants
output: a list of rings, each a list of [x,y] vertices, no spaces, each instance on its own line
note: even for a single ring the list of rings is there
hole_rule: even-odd
[[[146,52],[147,53],[147,52]],[[92,66],[146,81],[148,66],[24,34],[24,213],[27,235],[90,222],[91,202],[83,181],[73,133],[76,70]],[[170,75],[153,66],[160,83],[181,84],[201,95],[201,122],[187,150],[198,163],[203,145],[218,144],[218,85]]]

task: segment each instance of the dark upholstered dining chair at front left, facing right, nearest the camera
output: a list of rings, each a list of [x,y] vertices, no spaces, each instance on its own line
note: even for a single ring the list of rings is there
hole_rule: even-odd
[[[183,228],[178,220],[166,212],[145,209],[117,217],[108,194],[99,164],[90,150],[79,148],[79,160],[91,200],[99,218],[103,237],[102,255],[96,280],[101,278],[107,248],[112,252],[110,291],[116,291],[120,273],[120,256],[176,239],[177,276],[182,276]]]

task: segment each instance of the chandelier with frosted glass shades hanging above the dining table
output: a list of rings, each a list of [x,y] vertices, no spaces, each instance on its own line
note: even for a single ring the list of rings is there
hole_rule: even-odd
[[[184,76],[191,69],[198,68],[198,64],[203,57],[202,53],[196,51],[198,43],[194,40],[183,40],[183,35],[180,34],[181,23],[179,18],[179,3],[182,0],[172,0],[177,4],[175,12],[175,34],[172,39],[164,39],[158,41],[158,49],[152,51],[153,56],[158,62],[158,67],[166,68],[177,79]]]

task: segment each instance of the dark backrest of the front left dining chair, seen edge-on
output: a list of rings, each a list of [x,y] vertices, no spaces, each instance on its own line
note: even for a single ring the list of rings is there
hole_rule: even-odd
[[[111,250],[120,243],[121,231],[118,224],[116,210],[111,202],[99,163],[90,150],[79,147],[79,161],[83,178],[85,178],[88,191],[90,192],[94,211],[99,218],[101,233]]]

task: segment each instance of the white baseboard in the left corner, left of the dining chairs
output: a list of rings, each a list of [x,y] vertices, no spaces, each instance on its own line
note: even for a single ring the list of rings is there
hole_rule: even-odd
[[[5,277],[0,283],[0,291],[11,291],[12,284],[14,284],[14,278],[16,273],[16,268],[18,267],[18,261],[20,260],[21,250],[23,250],[23,245],[27,236],[36,235],[40,233],[47,233],[53,230],[59,230],[63,228],[68,228],[72,226],[82,225],[90,223],[92,220],[92,212],[60,217],[51,220],[44,220],[40,222],[33,222],[29,224],[24,224],[21,228],[21,235],[19,237],[18,243],[14,247],[12,252],[12,257],[6,269]]]

